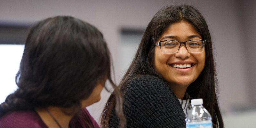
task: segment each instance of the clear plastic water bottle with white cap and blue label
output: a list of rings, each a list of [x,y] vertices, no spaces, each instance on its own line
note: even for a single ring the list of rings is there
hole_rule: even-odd
[[[203,99],[193,99],[191,105],[186,118],[186,128],[212,128],[212,116],[204,108]]]

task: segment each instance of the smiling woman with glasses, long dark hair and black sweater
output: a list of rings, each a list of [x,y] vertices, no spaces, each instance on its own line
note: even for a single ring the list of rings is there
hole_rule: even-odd
[[[223,128],[212,39],[193,6],[168,6],[146,28],[132,64],[118,88],[127,128],[185,128],[190,100],[202,98],[214,128]],[[112,94],[101,115],[103,128],[116,128]]]

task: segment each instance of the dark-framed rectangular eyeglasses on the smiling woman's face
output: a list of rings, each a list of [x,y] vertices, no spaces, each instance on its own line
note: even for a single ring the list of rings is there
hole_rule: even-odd
[[[176,40],[164,40],[159,41],[156,45],[160,46],[162,53],[169,54],[178,52],[182,44],[185,45],[186,49],[190,53],[201,53],[204,52],[206,40],[188,40],[184,42]]]

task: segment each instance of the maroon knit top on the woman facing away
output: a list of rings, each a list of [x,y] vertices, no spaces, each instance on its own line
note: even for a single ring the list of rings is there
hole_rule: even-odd
[[[70,128],[100,128],[86,108],[69,122]],[[90,126],[89,126],[90,125]],[[14,111],[0,119],[1,128],[48,128],[34,110]]]

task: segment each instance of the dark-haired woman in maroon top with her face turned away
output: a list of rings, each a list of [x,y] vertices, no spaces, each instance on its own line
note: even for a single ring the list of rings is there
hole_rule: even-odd
[[[39,21],[25,43],[19,88],[0,105],[0,127],[99,128],[85,107],[100,100],[107,79],[116,88],[110,74],[110,53],[97,28],[69,16]],[[122,126],[122,99],[113,93]]]

